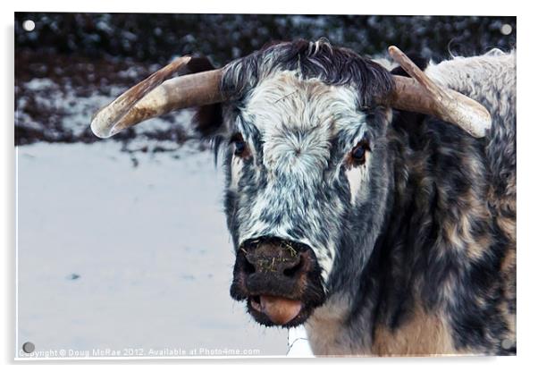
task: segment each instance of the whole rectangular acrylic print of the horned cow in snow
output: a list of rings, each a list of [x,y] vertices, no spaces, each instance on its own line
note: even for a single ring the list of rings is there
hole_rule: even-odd
[[[516,33],[15,13],[16,358],[516,354]]]

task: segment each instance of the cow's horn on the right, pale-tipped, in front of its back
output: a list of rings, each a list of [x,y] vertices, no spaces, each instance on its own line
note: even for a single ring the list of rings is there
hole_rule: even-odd
[[[385,105],[433,115],[458,125],[474,137],[485,136],[492,126],[492,117],[484,106],[456,90],[436,85],[398,47],[389,47],[389,54],[411,79],[394,76],[394,89],[384,98]]]

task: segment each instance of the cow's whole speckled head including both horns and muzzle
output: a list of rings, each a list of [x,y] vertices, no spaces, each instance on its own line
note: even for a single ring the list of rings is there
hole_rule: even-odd
[[[391,183],[391,107],[472,133],[487,127],[482,106],[392,54],[415,79],[324,41],[276,44],[163,83],[190,62],[178,60],[105,107],[92,129],[107,136],[173,108],[205,106],[198,127],[215,139],[227,180],[237,255],[231,296],[261,324],[295,326],[357,283],[372,253]]]

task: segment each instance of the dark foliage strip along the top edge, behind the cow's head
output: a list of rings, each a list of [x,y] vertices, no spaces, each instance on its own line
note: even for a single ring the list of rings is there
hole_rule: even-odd
[[[22,30],[32,20],[36,29]],[[509,25],[509,35],[503,25]],[[505,26],[506,33],[506,26]],[[16,47],[34,52],[166,63],[174,55],[209,56],[222,65],[274,40],[328,38],[363,55],[391,44],[434,60],[516,47],[515,17],[15,13]]]

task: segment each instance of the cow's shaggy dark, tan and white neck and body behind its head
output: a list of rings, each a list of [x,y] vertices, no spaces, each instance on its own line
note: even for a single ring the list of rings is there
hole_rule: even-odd
[[[514,55],[502,58],[515,67]],[[497,79],[482,79],[481,93],[462,87],[460,62],[430,73],[477,96],[496,123],[486,139],[472,139],[447,123],[395,113],[393,197],[382,233],[355,289],[332,296],[309,319],[316,354],[516,351],[515,70],[486,58]],[[498,84],[505,89],[493,97]]]

